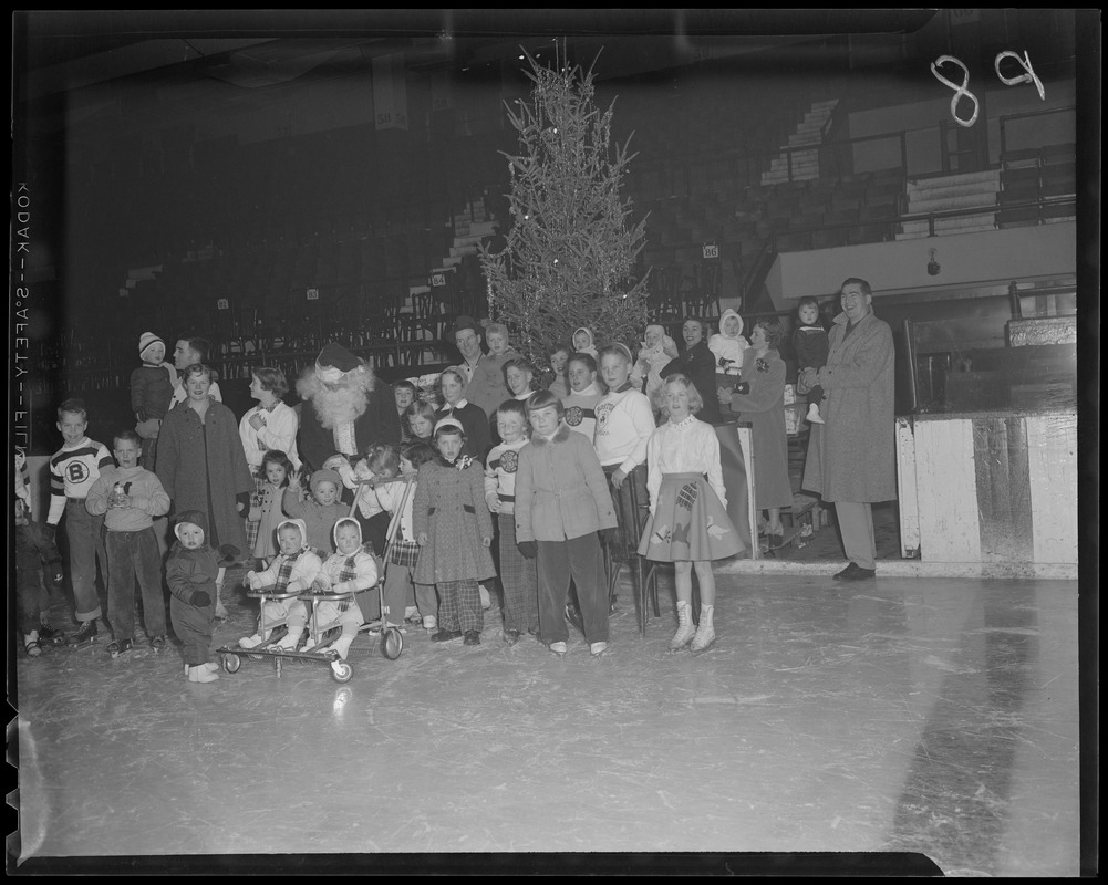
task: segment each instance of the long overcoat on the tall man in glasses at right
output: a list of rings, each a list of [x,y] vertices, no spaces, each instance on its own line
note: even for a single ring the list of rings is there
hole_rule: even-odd
[[[803,487],[824,501],[891,501],[896,497],[892,330],[871,311],[847,337],[847,315],[840,313],[829,338],[818,377],[827,423],[812,425]]]

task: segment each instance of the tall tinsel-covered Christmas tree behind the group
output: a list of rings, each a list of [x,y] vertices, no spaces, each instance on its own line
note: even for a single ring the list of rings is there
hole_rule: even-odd
[[[592,71],[529,59],[531,101],[507,107],[520,138],[520,153],[504,154],[511,228],[502,250],[481,251],[489,316],[535,364],[582,326],[598,344],[635,352],[646,325],[646,277],[634,279],[645,219],[629,226],[630,202],[619,196],[629,140],[611,144],[615,103],[596,107]]]

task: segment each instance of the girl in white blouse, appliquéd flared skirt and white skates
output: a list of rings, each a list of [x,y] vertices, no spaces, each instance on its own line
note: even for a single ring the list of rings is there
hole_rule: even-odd
[[[677,632],[670,651],[689,645],[694,655],[716,641],[712,615],[716,578],[711,562],[743,549],[727,515],[727,490],[719,464],[719,440],[711,424],[695,412],[704,404],[689,379],[673,373],[661,389],[669,420],[650,436],[646,449],[650,518],[638,545],[642,556],[673,563],[677,585]],[[693,570],[700,585],[700,622],[693,627]]]

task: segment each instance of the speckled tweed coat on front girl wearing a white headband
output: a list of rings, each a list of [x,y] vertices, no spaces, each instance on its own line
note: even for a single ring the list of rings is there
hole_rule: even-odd
[[[421,465],[412,504],[412,528],[417,537],[428,536],[416,564],[417,584],[495,576],[492,555],[483,541],[492,537],[493,529],[480,461],[474,459],[465,467],[438,459]]]

